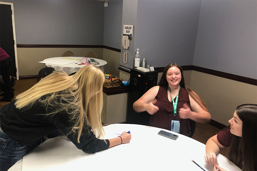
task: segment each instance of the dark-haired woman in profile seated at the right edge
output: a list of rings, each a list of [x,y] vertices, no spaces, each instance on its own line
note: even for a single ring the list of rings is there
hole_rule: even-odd
[[[216,154],[221,148],[230,146],[228,159],[243,171],[257,170],[257,105],[244,104],[236,108],[226,127],[206,143],[205,161],[214,170],[226,171],[218,166]],[[232,171],[232,170],[231,170]]]

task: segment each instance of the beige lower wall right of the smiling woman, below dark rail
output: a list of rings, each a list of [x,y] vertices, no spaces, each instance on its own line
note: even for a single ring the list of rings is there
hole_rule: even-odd
[[[224,125],[233,117],[236,107],[257,104],[257,86],[192,71],[190,88],[207,104],[212,119]]]

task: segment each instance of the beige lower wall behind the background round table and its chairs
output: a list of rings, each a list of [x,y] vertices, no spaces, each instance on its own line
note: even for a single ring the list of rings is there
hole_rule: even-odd
[[[45,64],[38,62],[62,56],[66,51],[73,52],[74,56],[95,52],[99,59],[103,59],[103,48],[17,48],[19,76],[37,75],[45,67]]]

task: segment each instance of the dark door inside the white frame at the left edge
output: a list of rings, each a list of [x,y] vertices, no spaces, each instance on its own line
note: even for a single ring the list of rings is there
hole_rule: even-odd
[[[11,76],[17,77],[11,5],[0,4],[0,47],[12,59]]]

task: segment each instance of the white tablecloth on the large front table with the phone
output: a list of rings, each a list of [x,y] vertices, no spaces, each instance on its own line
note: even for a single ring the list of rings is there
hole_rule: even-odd
[[[18,161],[9,171],[71,171],[71,170],[195,170],[213,171],[204,160],[205,145],[179,135],[177,140],[162,137],[160,128],[113,124],[104,127],[105,138],[116,138],[123,131],[131,132],[131,141],[95,154],[87,154],[66,137],[45,141]],[[167,130],[165,130],[167,131]],[[171,131],[167,131],[171,132]],[[217,155],[219,166],[228,171],[239,171],[235,164],[221,154]]]

